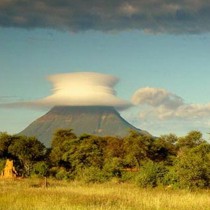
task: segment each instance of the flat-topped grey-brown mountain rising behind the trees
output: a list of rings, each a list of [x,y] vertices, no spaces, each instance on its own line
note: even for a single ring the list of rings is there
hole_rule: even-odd
[[[20,134],[35,136],[49,147],[56,130],[70,128],[76,135],[87,133],[123,137],[129,130],[146,134],[124,120],[113,107],[108,106],[57,106],[32,122]]]

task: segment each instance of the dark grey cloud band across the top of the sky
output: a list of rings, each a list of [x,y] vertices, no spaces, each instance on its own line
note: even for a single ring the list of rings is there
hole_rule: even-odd
[[[208,0],[1,0],[0,26],[69,31],[204,33],[210,31]]]

